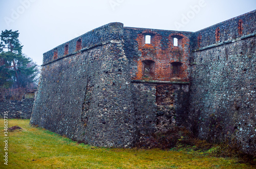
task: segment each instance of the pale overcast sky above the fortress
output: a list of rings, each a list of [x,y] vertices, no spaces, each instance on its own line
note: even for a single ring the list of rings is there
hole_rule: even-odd
[[[255,0],[0,0],[0,31],[18,30],[41,65],[42,53],[110,22],[196,32],[255,9]]]

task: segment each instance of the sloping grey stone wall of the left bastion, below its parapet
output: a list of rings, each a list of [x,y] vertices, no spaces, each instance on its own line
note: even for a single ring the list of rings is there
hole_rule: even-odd
[[[111,23],[89,34],[95,32],[105,41],[45,62],[30,123],[90,145],[131,147],[135,116],[123,27]]]

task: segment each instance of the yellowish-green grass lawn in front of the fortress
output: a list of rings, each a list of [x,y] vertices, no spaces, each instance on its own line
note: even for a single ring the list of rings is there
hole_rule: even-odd
[[[4,164],[4,120],[0,119],[0,168],[253,168],[236,158],[218,158],[210,151],[97,148],[29,125],[9,120],[8,166]],[[255,167],[255,166],[254,166]]]

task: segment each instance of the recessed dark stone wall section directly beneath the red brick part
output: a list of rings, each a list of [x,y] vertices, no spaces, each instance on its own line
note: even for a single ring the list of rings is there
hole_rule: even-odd
[[[186,126],[188,92],[188,85],[133,83],[137,133],[151,135]]]

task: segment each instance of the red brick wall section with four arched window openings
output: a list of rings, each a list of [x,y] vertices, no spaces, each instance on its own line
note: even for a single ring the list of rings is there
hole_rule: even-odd
[[[145,44],[145,36],[151,35],[151,44]],[[162,48],[162,39],[167,38],[167,48]],[[174,46],[173,39],[178,38],[178,46]],[[138,49],[141,57],[137,62],[137,73],[133,79],[148,79],[144,75],[143,61],[151,60],[155,62],[154,75],[150,77],[152,80],[163,81],[188,81],[188,50],[189,39],[183,34],[170,34],[168,37],[162,37],[156,32],[143,31],[137,36]],[[166,44],[164,44],[166,45]],[[179,67],[178,75],[173,74],[172,62],[182,63]]]

